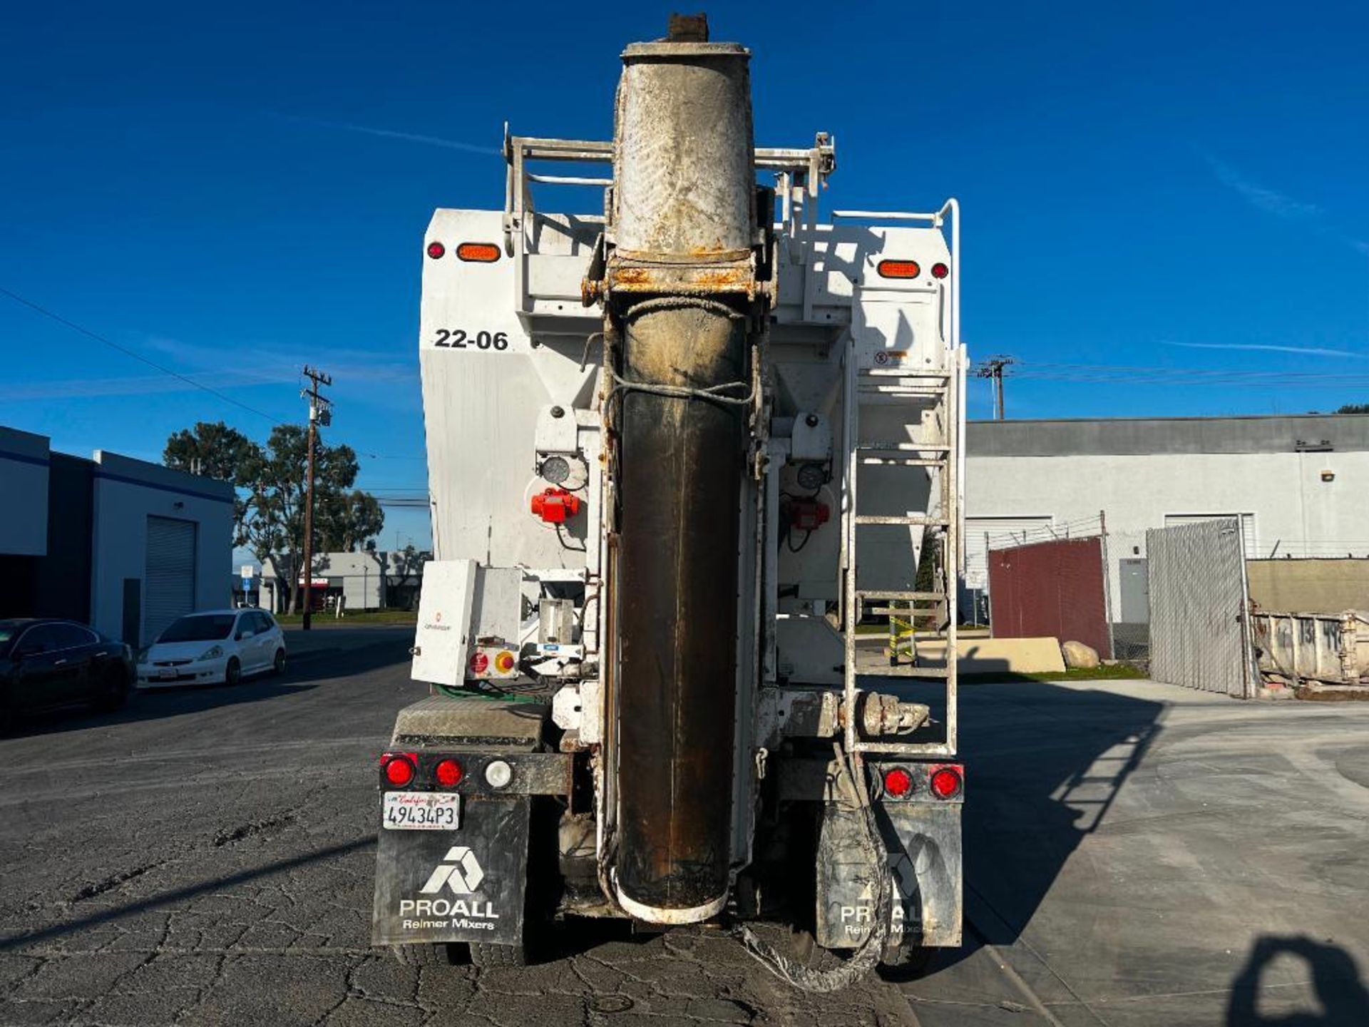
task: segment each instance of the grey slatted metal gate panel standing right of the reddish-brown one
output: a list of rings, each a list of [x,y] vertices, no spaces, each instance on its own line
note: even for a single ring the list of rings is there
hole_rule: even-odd
[[[1246,557],[1236,518],[1146,533],[1150,676],[1249,698],[1254,694]]]

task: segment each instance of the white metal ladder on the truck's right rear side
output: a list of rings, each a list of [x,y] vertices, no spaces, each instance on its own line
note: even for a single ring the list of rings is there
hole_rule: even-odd
[[[956,349],[946,351],[945,368],[904,370],[858,367],[854,340],[846,351],[845,374],[845,434],[843,446],[846,460],[843,466],[842,487],[842,559],[843,571],[843,604],[842,629],[846,645],[846,663],[843,667],[845,690],[843,701],[846,716],[846,749],[847,752],[890,753],[901,756],[953,756],[956,753],[956,568],[960,546],[958,538],[958,460],[960,452],[958,433],[958,404],[960,386],[954,368],[960,362]],[[908,440],[867,440],[860,430],[860,411],[862,398],[888,396],[908,400],[909,409],[930,408],[931,418],[923,418],[920,433],[931,435],[912,442]],[[862,514],[860,507],[860,490],[857,479],[861,467],[899,467],[913,470],[920,474],[934,472],[935,489],[928,501],[927,514],[908,515],[876,515]],[[923,559],[934,555],[925,552],[925,529],[941,530],[942,559],[936,572],[936,585],[931,592],[920,590],[890,590],[890,589],[862,589],[857,579],[857,534],[861,527],[872,524],[897,524],[909,529],[921,527],[924,530]],[[867,603],[883,603],[872,605],[868,612],[888,616],[906,618],[912,624],[910,655],[914,659],[912,665],[897,665],[880,670],[861,671],[857,665],[857,634],[856,627],[865,609]],[[890,605],[899,604],[899,605]],[[945,639],[946,661],[945,667],[928,667],[916,663],[919,659],[917,620],[934,616],[945,620],[945,631],[932,631],[938,641]],[[925,637],[925,635],[923,635]],[[856,716],[857,702],[862,689],[858,679],[868,676],[897,676],[923,678],[946,682],[946,741],[945,742],[893,742],[893,741],[862,741],[857,731],[860,720]]]

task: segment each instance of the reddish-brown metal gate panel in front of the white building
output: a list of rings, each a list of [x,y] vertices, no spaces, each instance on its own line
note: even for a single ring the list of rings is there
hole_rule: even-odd
[[[988,553],[994,638],[1058,638],[1112,657],[1101,538],[1058,538]]]

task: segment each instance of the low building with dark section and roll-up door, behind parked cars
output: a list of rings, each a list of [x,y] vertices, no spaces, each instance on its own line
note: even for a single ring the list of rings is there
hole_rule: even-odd
[[[82,620],[142,645],[229,603],[233,486],[0,429],[0,616]]]

